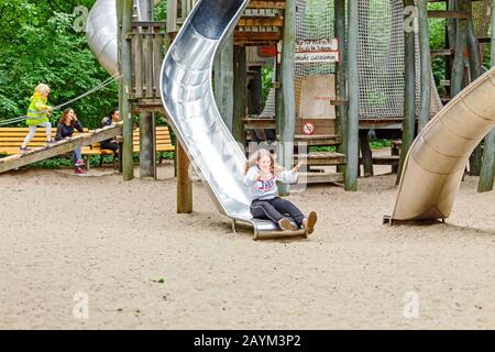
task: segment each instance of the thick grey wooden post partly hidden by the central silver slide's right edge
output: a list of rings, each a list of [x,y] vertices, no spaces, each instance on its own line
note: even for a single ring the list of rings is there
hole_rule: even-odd
[[[215,58],[215,100],[230,132],[233,120],[233,36]]]

